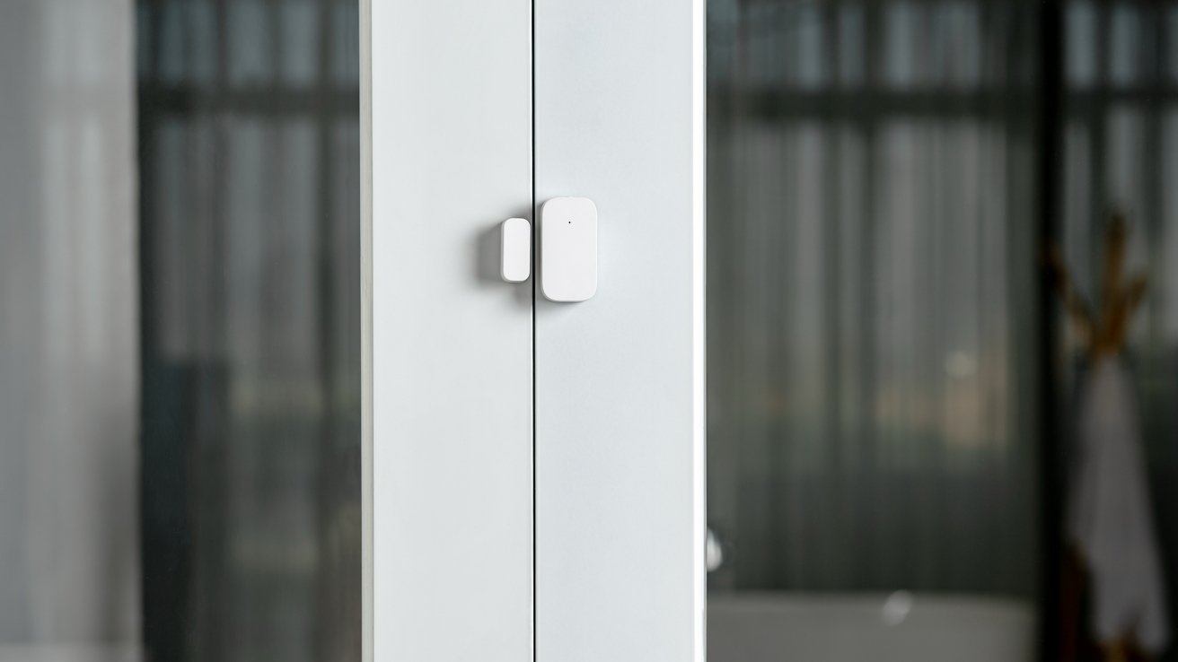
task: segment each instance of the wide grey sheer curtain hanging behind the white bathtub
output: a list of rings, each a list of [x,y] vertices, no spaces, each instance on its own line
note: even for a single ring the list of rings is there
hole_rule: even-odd
[[[1035,590],[1034,4],[709,4],[714,590]]]

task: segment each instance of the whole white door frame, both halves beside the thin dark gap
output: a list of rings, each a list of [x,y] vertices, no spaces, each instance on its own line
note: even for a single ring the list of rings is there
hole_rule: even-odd
[[[360,2],[365,660],[703,660],[704,0]],[[470,279],[556,196],[593,299]]]

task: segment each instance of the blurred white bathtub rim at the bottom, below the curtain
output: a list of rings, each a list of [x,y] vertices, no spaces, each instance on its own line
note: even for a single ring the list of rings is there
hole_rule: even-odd
[[[708,596],[708,662],[1030,662],[1034,637],[1033,605],[1014,600]]]

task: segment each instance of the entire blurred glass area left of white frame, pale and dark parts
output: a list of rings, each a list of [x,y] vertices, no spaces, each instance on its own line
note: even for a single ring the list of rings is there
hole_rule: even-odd
[[[0,660],[359,660],[358,33],[0,2]]]

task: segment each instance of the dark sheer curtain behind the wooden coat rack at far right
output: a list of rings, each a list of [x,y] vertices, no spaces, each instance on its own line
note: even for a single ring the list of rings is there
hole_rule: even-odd
[[[1066,11],[1061,244],[1098,296],[1108,212],[1132,224],[1126,269],[1150,290],[1127,345],[1167,594],[1178,596],[1178,2],[1072,1]],[[1060,392],[1083,370],[1060,324]],[[1178,611],[1171,610],[1171,617]],[[1173,627],[1178,629],[1178,621]],[[1178,658],[1171,651],[1165,660]]]

